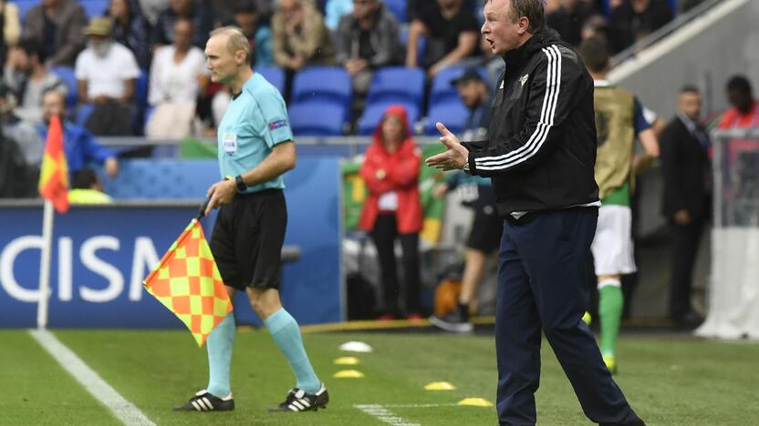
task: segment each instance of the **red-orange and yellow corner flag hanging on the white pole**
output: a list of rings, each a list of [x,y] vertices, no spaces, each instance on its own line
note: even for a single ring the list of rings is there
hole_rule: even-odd
[[[53,203],[58,213],[68,211],[68,163],[63,151],[63,128],[60,117],[50,118],[45,141],[45,155],[39,172],[39,195]]]

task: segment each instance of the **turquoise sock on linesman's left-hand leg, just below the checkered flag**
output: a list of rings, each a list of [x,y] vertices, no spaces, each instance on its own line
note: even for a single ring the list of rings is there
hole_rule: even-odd
[[[224,398],[230,394],[229,364],[232,360],[234,343],[234,313],[230,313],[216,326],[208,340],[208,388],[206,391],[215,397]]]

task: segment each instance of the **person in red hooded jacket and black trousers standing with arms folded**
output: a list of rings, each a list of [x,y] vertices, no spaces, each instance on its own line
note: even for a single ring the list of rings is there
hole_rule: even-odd
[[[368,231],[377,248],[385,298],[380,320],[405,316],[421,320],[419,231],[422,228],[419,198],[421,152],[409,130],[403,106],[389,106],[367,148],[361,177],[369,195],[361,212],[359,228]],[[406,297],[403,315],[399,307],[400,286],[396,274],[395,239],[403,249],[402,263]]]

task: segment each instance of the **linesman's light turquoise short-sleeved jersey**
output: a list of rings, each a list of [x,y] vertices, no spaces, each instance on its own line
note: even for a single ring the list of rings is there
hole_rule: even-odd
[[[264,161],[276,144],[293,139],[285,100],[275,86],[254,73],[232,98],[217,137],[222,178],[242,175]],[[285,188],[282,176],[248,187],[245,193],[270,188]]]

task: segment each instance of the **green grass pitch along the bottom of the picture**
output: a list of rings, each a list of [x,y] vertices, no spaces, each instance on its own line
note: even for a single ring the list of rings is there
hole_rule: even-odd
[[[468,397],[494,402],[492,336],[380,332],[307,333],[317,373],[328,384],[328,409],[269,413],[294,379],[274,342],[262,331],[236,336],[232,388],[236,410],[172,412],[206,383],[205,350],[186,331],[56,330],[57,338],[116,391],[159,425],[374,425],[386,424],[357,405],[380,404],[421,425],[493,425],[494,407],[456,405]],[[371,353],[338,350],[348,340],[369,343]],[[0,331],[0,424],[119,424],[110,411],[61,369],[26,330]],[[357,366],[338,366],[356,356]],[[674,335],[622,335],[616,380],[649,425],[759,424],[756,387],[759,345],[695,340]],[[363,379],[335,379],[355,369]],[[453,391],[425,391],[448,381]],[[538,424],[586,425],[577,399],[547,342],[536,394]]]

